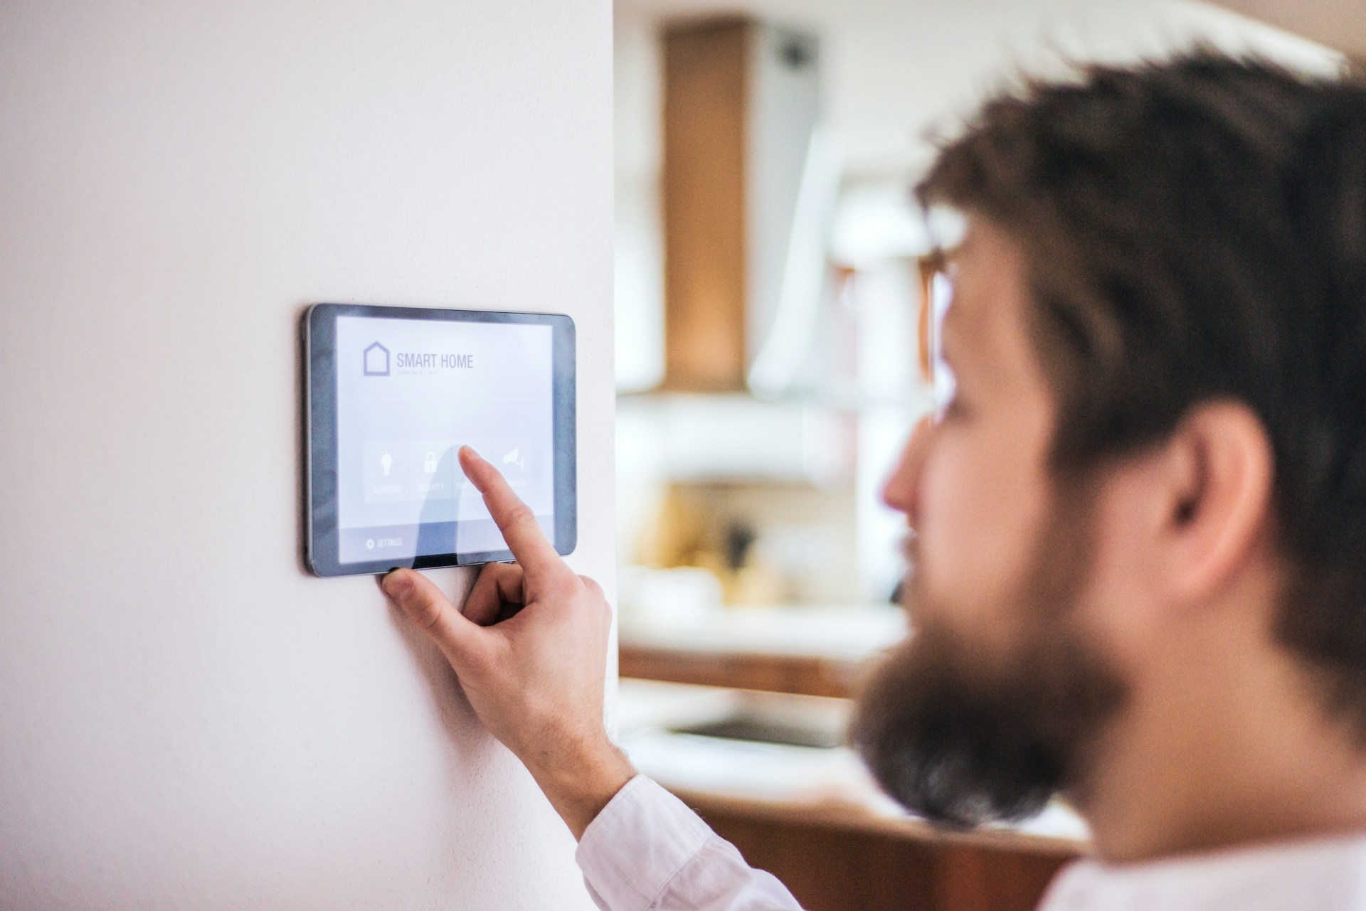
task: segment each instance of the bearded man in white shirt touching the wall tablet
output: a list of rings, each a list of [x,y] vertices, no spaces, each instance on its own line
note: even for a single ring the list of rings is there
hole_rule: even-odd
[[[955,825],[1064,794],[1071,908],[1366,910],[1366,86],[1206,52],[988,102],[953,397],[887,501],[914,635],[852,731]],[[516,565],[384,590],[581,839],[604,908],[794,908],[602,729],[609,608],[497,471]],[[505,617],[515,605],[520,612]]]

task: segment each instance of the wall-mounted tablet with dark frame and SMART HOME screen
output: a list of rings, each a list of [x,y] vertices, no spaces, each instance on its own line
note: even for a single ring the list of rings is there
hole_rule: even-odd
[[[324,576],[511,560],[456,452],[576,538],[574,321],[317,303],[303,317],[305,559]]]

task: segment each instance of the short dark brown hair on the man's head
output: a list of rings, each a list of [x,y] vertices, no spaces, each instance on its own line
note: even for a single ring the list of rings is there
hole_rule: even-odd
[[[1366,85],[1199,49],[990,100],[917,187],[1023,247],[1070,473],[1201,402],[1261,419],[1276,635],[1366,740]]]

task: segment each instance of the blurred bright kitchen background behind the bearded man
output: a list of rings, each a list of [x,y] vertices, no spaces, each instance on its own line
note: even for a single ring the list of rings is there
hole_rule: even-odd
[[[944,835],[841,744],[906,634],[878,492],[930,408],[908,190],[1019,72],[1197,42],[1366,59],[1361,0],[617,0],[619,725],[642,772],[821,908],[1033,907],[1081,821]]]

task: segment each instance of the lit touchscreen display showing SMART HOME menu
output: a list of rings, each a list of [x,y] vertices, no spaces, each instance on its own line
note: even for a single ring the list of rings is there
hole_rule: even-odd
[[[555,541],[552,326],[339,316],[343,564],[503,550],[456,452],[492,462]]]

